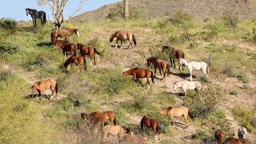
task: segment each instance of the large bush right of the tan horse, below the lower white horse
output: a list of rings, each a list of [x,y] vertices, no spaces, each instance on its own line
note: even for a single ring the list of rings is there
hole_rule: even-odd
[[[202,102],[201,99],[202,98]],[[195,118],[207,118],[209,114],[218,108],[218,102],[222,100],[220,87],[211,87],[197,93],[190,93],[184,103],[190,109]]]

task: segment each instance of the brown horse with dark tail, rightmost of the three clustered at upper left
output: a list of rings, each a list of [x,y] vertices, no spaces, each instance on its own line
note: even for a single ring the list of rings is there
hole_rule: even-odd
[[[95,54],[102,55],[100,52],[94,48],[94,46],[83,46],[81,43],[77,43],[78,50],[80,50],[80,54],[83,57],[86,57],[86,55],[90,56],[90,59],[94,58],[94,65],[96,64],[95,62]]]

